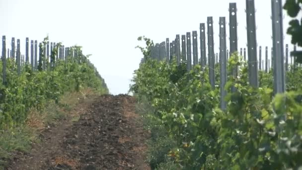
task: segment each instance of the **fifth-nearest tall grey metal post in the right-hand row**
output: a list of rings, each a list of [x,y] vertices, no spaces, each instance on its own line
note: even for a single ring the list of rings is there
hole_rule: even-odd
[[[214,64],[214,37],[213,37],[213,17],[207,17],[208,24],[208,59],[209,59],[209,78],[212,88],[215,88],[215,64]]]

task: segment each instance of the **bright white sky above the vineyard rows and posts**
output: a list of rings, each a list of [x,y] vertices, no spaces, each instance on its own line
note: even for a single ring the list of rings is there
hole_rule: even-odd
[[[47,34],[51,42],[83,46],[110,92],[126,93],[142,58],[135,49],[137,37],[162,42],[176,34],[199,33],[199,23],[213,16],[217,53],[218,21],[226,16],[228,22],[229,2],[237,2],[238,48],[246,47],[245,0],[0,0],[0,35],[6,35],[9,48],[11,37],[20,39],[23,54],[26,37],[42,41]],[[271,0],[255,0],[255,6],[258,45],[270,49]],[[285,34],[290,18],[285,11],[284,15],[285,43],[290,43]]]

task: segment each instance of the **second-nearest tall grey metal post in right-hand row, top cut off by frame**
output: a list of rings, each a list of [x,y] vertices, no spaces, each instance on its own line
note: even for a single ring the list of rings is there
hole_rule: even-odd
[[[258,87],[258,65],[256,46],[257,40],[254,0],[246,0],[246,27],[249,83],[253,87]]]

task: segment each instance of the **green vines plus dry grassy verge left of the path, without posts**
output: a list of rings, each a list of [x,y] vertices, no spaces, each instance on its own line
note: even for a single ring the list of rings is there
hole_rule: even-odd
[[[60,44],[55,49],[59,47]],[[20,75],[16,62],[6,60],[6,82],[0,84],[0,169],[14,152],[27,152],[32,143],[39,142],[37,135],[45,126],[72,114],[69,112],[80,101],[80,96],[108,93],[104,80],[87,56],[80,53],[80,47],[75,46],[73,50],[78,51],[78,55],[68,56],[68,60],[56,61],[56,52],[53,52],[52,62],[40,60],[35,72],[25,64]],[[44,62],[47,70],[42,68]],[[72,115],[72,120],[77,121],[78,117]]]

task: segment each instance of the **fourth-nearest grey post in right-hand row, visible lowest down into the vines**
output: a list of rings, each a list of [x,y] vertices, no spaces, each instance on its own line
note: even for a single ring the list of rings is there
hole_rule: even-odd
[[[225,85],[227,83],[227,57],[226,57],[226,49],[227,49],[227,40],[226,40],[226,17],[219,17],[219,37],[220,37],[220,104],[221,109],[227,109],[227,102],[225,97],[227,95],[227,91],[225,90]]]

